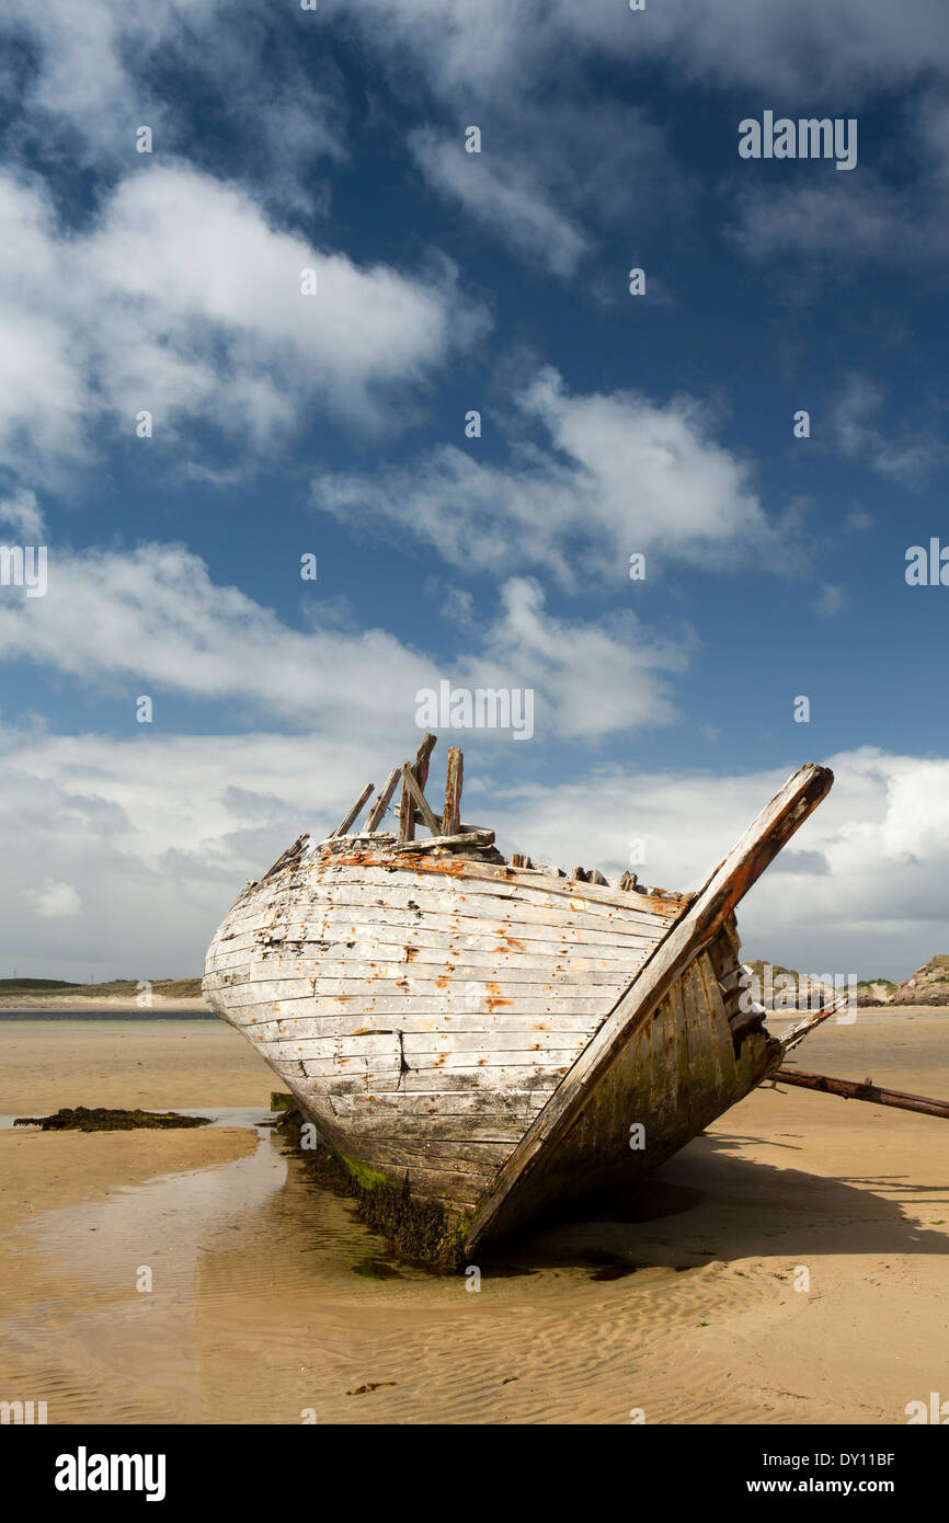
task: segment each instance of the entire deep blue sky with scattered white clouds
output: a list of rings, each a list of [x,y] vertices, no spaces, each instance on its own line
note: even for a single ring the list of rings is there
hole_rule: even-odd
[[[3,976],[198,972],[440,681],[535,694],[433,760],[501,850],[698,886],[820,760],[746,953],[949,952],[944,0],[0,26]]]

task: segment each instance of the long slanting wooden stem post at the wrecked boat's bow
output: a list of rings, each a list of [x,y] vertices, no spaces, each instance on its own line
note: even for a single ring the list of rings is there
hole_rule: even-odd
[[[503,1202],[515,1186],[518,1191],[529,1188],[538,1159],[556,1147],[558,1136],[574,1124],[588,1095],[620,1060],[634,1033],[649,1019],[693,958],[713,940],[722,921],[794,832],[803,825],[832,783],[833,772],[813,763],[795,772],[711,873],[689,908],[682,909],[626,987],[593,1042],[564,1075],[504,1168],[498,1171],[477,1211],[465,1241],[465,1252],[471,1252],[490,1229]]]

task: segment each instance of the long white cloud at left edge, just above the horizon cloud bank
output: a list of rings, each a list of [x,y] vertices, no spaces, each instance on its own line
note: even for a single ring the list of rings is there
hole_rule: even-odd
[[[291,629],[238,588],[216,586],[180,545],[53,550],[47,595],[0,603],[0,658],[107,691],[134,685],[238,702],[289,723],[318,713],[328,725],[344,716],[363,728],[410,714],[431,673],[379,629]]]

